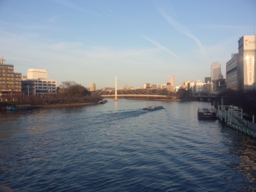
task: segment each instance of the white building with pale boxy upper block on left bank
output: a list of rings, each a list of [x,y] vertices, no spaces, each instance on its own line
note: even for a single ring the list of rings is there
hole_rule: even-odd
[[[57,93],[57,81],[47,79],[45,69],[28,69],[27,78],[22,81],[22,92],[26,95]]]

